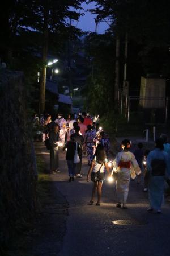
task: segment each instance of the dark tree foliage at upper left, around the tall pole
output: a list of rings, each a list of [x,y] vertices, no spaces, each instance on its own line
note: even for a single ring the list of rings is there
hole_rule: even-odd
[[[69,20],[78,20],[84,0],[7,0],[0,10],[0,58],[7,67],[24,71],[29,88],[35,90],[41,60],[44,14],[48,11],[48,48],[59,57],[66,41],[81,35]],[[48,9],[48,10],[47,10]]]

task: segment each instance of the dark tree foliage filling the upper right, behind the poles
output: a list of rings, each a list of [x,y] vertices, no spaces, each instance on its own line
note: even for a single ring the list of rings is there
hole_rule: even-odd
[[[92,0],[88,1],[89,3]],[[124,63],[125,63],[125,35],[128,33],[128,81],[130,86],[139,89],[140,77],[147,73],[157,73],[169,76],[169,43],[170,43],[170,18],[169,18],[170,2],[168,0],[96,0],[96,7],[91,13],[96,14],[96,22],[107,22],[109,29],[106,35],[110,36],[112,42],[118,37],[120,39],[120,88],[124,80]],[[100,40],[100,39],[99,39]],[[107,43],[107,37],[103,45]],[[103,54],[103,47],[100,47],[100,56]],[[96,51],[96,48],[94,49]],[[114,63],[116,57],[114,55],[115,43],[108,49],[105,54],[105,67],[103,76],[111,79],[112,83],[107,84],[108,91],[114,91]],[[98,54],[98,53],[97,53]],[[94,56],[95,60],[100,62],[100,58]],[[110,63],[112,59],[112,71],[109,73]],[[96,80],[100,80],[101,73],[96,72]],[[94,83],[93,83],[94,84]],[[97,84],[98,86],[98,84]],[[96,92],[97,93],[97,92]],[[103,94],[105,94],[105,86],[100,86],[98,92],[99,105],[103,102]],[[109,96],[111,95],[109,93]],[[88,92],[89,105],[94,105],[94,98],[91,97],[92,92]],[[95,97],[95,96],[94,96]],[[101,112],[108,110],[107,103],[101,104]],[[96,106],[97,107],[97,104]],[[95,108],[94,108],[95,109]],[[96,108],[99,109],[98,107]]]

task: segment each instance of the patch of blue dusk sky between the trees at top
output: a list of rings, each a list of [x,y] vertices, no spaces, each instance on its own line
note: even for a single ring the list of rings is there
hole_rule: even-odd
[[[84,16],[80,17],[79,22],[74,23],[75,26],[77,26],[77,28],[81,28],[83,31],[95,32],[95,27],[96,27],[95,17],[96,17],[96,15],[91,14],[90,12],[86,13],[86,10],[92,9],[95,7],[95,2],[90,3],[89,5],[87,5],[87,3],[83,3],[82,7],[84,10],[82,10],[81,12],[84,13]],[[101,22],[98,27],[98,33],[103,34],[107,28],[108,28],[107,23]]]

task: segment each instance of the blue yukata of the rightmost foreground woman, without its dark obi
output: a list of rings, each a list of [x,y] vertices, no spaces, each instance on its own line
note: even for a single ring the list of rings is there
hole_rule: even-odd
[[[164,201],[164,181],[165,177],[170,175],[170,166],[168,161],[168,154],[164,150],[155,148],[147,156],[147,169],[149,172],[148,179],[148,199],[150,201],[150,207],[155,210],[160,210]],[[164,160],[165,162],[165,174],[160,176],[154,176],[152,174],[152,161]]]

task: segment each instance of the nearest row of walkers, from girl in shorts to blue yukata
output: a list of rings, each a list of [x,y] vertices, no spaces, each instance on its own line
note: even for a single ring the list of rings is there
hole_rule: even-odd
[[[139,144],[141,150],[141,145]],[[87,181],[91,180],[94,182],[92,189],[92,197],[90,203],[94,203],[95,193],[97,191],[97,203],[100,205],[101,199],[101,187],[104,180],[104,167],[111,176],[108,168],[108,160],[106,154],[103,151],[104,148],[98,146],[94,160],[92,161],[91,167],[87,174]],[[135,155],[130,152],[131,142],[129,139],[125,139],[121,143],[121,152],[118,152],[114,159],[113,170],[116,173],[116,192],[117,192],[117,204],[116,207],[122,209],[128,209],[126,201],[128,199],[130,177],[135,179],[136,175],[137,182],[139,184],[139,175],[141,175],[142,163],[138,164]],[[135,154],[137,155],[137,151]],[[161,207],[164,201],[164,187],[165,181],[170,184],[170,144],[167,143],[167,136],[164,134],[160,138],[156,139],[155,149],[147,152],[147,159],[145,163],[145,179],[147,179],[148,189],[148,200],[150,206],[148,212],[161,213]],[[139,152],[138,152],[139,153]],[[146,153],[143,154],[146,157]],[[113,174],[114,174],[113,172]],[[145,180],[146,185],[146,180]]]

